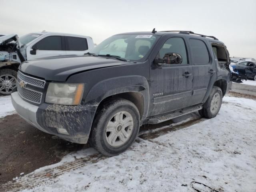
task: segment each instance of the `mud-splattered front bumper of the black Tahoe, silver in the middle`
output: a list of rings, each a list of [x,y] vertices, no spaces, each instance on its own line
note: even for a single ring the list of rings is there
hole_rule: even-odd
[[[24,101],[18,92],[12,93],[12,104],[17,113],[39,130],[57,135],[70,142],[86,144],[97,106],[65,106],[43,103],[35,106]],[[69,135],[60,134],[64,128]]]

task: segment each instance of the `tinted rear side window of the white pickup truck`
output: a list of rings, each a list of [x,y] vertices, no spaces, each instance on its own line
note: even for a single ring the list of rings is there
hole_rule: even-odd
[[[66,37],[66,50],[67,51],[85,51],[88,50],[86,38],[80,37]]]

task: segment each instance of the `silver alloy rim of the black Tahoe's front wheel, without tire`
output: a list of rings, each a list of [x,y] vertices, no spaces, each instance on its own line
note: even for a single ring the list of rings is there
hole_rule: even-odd
[[[119,147],[126,143],[132,135],[134,120],[127,111],[114,114],[106,126],[105,137],[112,147]]]

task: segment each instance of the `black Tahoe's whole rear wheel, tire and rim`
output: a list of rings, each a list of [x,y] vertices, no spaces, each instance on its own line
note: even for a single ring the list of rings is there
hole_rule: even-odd
[[[220,111],[222,104],[222,90],[213,86],[212,91],[208,99],[203,105],[203,108],[199,110],[199,114],[205,118],[214,118]]]

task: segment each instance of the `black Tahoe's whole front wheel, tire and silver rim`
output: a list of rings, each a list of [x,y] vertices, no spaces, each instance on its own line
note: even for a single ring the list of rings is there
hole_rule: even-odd
[[[105,156],[115,156],[132,145],[139,128],[140,114],[132,102],[108,100],[94,118],[89,143]]]

